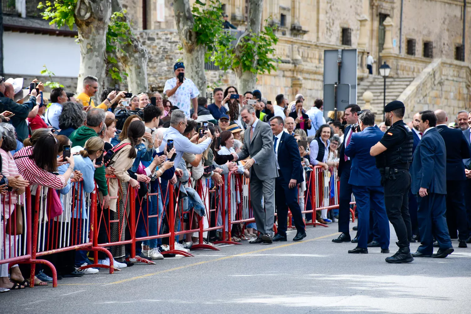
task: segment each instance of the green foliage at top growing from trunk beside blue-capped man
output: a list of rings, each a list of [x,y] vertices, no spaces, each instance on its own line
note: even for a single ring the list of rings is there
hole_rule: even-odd
[[[204,57],[208,62],[219,47],[229,48],[235,37],[222,28],[224,11],[220,0],[206,0],[206,3],[196,0],[191,12],[195,20],[196,43],[206,47]]]

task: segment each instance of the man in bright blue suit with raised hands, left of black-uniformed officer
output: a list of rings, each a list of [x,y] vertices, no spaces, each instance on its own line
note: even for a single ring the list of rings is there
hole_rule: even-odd
[[[389,253],[389,220],[384,207],[384,189],[381,185],[381,174],[376,168],[376,160],[370,155],[370,149],[378,143],[383,132],[374,127],[374,113],[366,111],[358,117],[361,132],[353,133],[345,155],[351,159],[349,184],[358,210],[358,244],[349,253],[368,253],[367,243],[370,233],[370,209],[378,224],[379,243],[382,253]]]

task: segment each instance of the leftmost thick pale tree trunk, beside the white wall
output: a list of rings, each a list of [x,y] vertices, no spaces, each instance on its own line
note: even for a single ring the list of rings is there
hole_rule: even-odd
[[[111,17],[111,0],[78,0],[75,24],[79,32],[80,69],[77,93],[82,92],[83,79],[98,79],[97,97],[105,81],[106,32]],[[97,99],[95,100],[97,101]]]

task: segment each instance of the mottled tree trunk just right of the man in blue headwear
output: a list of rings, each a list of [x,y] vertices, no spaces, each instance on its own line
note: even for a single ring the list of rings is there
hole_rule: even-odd
[[[189,0],[173,0],[175,23],[183,48],[185,77],[191,79],[200,96],[206,97],[206,76],[204,75],[204,53],[206,48],[196,44],[196,33],[193,31],[195,20],[191,13]]]

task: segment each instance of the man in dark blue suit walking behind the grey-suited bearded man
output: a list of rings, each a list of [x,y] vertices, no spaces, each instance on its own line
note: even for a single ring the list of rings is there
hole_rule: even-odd
[[[276,217],[278,217],[278,232],[273,241],[286,241],[288,207],[296,226],[296,236],[293,241],[306,237],[304,221],[298,203],[298,184],[304,181],[302,176],[301,155],[296,139],[284,132],[283,119],[279,116],[270,119],[273,132],[273,148],[278,167],[279,177],[275,180]]]

